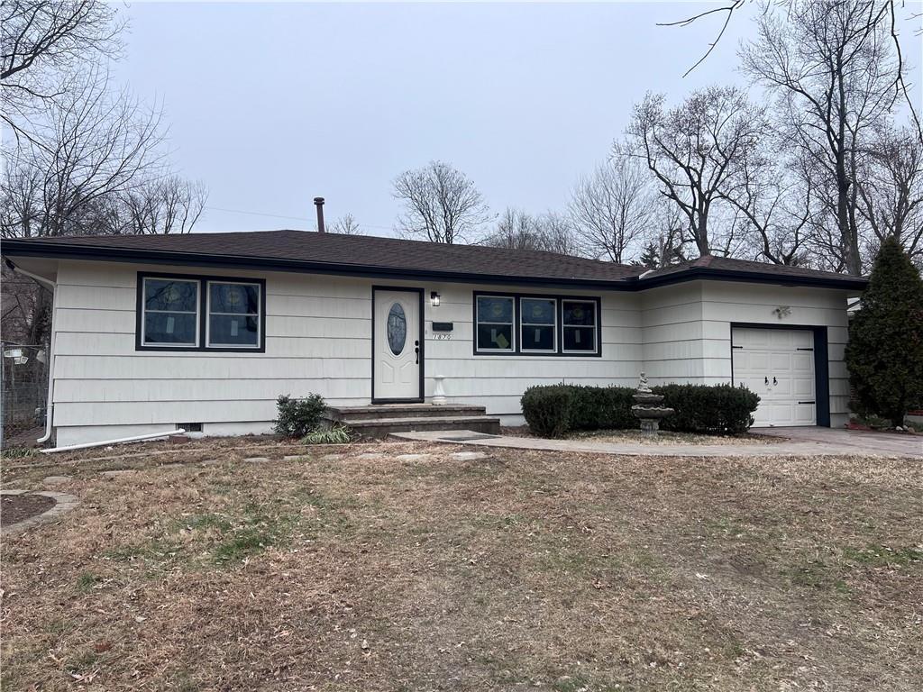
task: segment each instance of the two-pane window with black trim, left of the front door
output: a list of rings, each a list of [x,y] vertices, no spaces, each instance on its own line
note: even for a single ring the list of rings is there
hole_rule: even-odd
[[[265,350],[266,283],[138,274],[138,351]]]

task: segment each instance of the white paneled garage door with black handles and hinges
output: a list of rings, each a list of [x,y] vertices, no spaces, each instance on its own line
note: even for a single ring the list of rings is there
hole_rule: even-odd
[[[754,426],[817,424],[812,331],[738,327],[731,344],[734,384],[760,395]]]

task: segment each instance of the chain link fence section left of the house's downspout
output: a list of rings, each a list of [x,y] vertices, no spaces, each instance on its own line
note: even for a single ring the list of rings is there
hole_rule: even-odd
[[[3,341],[2,448],[30,447],[47,413],[48,347]]]

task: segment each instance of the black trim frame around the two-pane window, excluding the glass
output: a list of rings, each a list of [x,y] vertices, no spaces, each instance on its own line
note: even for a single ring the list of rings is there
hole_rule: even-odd
[[[198,281],[198,330],[196,346],[156,346],[145,344],[144,338],[144,280]],[[206,340],[208,321],[209,282],[250,283],[259,286],[259,343],[257,346],[208,346]],[[266,280],[248,277],[212,276],[210,274],[173,274],[166,271],[139,271],[135,304],[135,351],[157,352],[209,352],[209,353],[265,353],[266,352]]]

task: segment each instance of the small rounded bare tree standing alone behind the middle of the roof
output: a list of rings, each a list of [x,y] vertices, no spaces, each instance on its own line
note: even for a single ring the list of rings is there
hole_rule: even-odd
[[[473,181],[443,161],[401,173],[394,181],[394,197],[404,204],[398,219],[401,233],[431,243],[473,241],[490,219]]]

